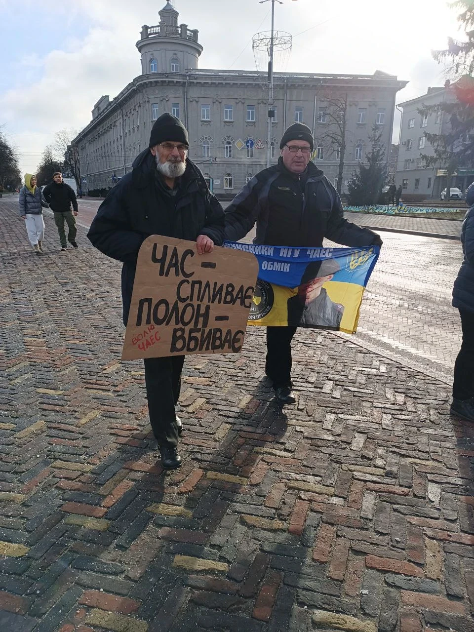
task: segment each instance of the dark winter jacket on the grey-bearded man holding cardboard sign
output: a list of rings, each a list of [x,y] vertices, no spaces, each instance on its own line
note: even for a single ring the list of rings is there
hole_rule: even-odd
[[[207,235],[216,246],[224,241],[224,211],[204,176],[186,159],[186,171],[171,191],[157,176],[149,149],[133,162],[133,170],[108,193],[87,233],[92,245],[123,262],[123,322],[126,325],[137,267],[138,250],[150,235],[196,241]]]

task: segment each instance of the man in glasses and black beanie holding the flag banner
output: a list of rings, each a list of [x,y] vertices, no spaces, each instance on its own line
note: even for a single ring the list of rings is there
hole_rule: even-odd
[[[238,241],[257,222],[253,243],[319,248],[327,237],[345,246],[381,245],[379,235],[344,219],[334,186],[310,162],[312,131],[295,123],[280,143],[278,164],[260,171],[226,209],[226,239]],[[267,327],[265,372],[276,398],[295,403],[291,390],[291,339],[296,327]]]

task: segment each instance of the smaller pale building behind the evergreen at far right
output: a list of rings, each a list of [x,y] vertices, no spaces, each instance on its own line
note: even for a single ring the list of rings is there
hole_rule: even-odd
[[[449,85],[449,84],[448,84]],[[427,167],[422,155],[434,155],[433,147],[425,137],[429,134],[446,134],[449,116],[446,112],[420,114],[423,106],[434,106],[454,100],[448,87],[428,88],[427,94],[399,104],[403,107],[401,118],[400,146],[396,171],[396,183],[402,185],[403,192],[412,198],[435,198],[446,188],[446,168],[439,164]],[[451,180],[451,186],[465,191],[474,180],[474,169],[458,169]]]

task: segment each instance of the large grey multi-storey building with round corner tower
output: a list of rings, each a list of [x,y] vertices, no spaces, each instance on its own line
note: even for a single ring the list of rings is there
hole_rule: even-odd
[[[112,100],[100,97],[92,121],[74,139],[84,191],[109,188],[131,170],[148,146],[150,128],[163,112],[178,116],[189,131],[190,158],[216,193],[234,195],[267,166],[266,75],[244,70],[200,70],[198,31],[178,25],[167,3],[159,25],[142,27],[137,49],[142,74]],[[313,160],[336,183],[340,148],[329,142],[331,116],[325,99],[348,95],[343,190],[368,149],[372,126],[390,146],[395,98],[406,85],[396,76],[275,73],[272,162],[286,127],[300,121],[315,136]],[[173,140],[173,139],[170,139]],[[388,156],[387,156],[388,160]]]

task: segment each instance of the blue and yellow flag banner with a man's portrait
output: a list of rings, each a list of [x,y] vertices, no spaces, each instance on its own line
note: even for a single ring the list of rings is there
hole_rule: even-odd
[[[249,325],[312,327],[355,334],[379,246],[296,248],[226,241],[258,260]]]

